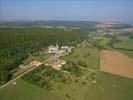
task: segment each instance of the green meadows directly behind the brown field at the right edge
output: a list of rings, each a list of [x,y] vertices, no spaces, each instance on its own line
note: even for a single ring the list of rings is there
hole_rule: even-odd
[[[121,52],[130,58],[133,58],[133,33],[120,32],[115,35],[116,39],[113,43],[113,50]]]

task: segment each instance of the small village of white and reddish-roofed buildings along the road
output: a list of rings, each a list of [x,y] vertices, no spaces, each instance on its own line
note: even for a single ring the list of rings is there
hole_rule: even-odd
[[[68,55],[72,52],[72,48],[73,47],[69,47],[69,46],[59,47],[59,45],[56,44],[56,45],[50,45],[47,48],[46,52],[49,55],[50,54],[57,55],[57,56]],[[51,60],[47,60],[47,61],[44,61],[44,62],[33,59],[30,63],[19,65],[19,67],[20,67],[20,69],[28,69],[28,68],[32,68],[34,66],[40,66],[42,64],[44,64],[45,66],[50,66],[54,69],[60,70],[61,67],[63,67],[66,64],[66,61],[61,60],[58,57],[55,57]]]

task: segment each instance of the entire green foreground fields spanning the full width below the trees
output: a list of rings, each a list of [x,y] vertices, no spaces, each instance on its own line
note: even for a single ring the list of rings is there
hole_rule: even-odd
[[[15,86],[0,90],[0,100],[131,100],[132,92],[132,79],[98,72],[96,83],[86,86],[79,83],[61,85],[55,91],[46,91],[18,80]]]

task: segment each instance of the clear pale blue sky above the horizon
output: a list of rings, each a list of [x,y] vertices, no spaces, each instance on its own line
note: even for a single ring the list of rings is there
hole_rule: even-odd
[[[133,0],[0,0],[0,21],[133,22]]]

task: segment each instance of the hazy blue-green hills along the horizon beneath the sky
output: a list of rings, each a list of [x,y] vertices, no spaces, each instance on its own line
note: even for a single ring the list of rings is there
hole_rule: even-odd
[[[100,22],[96,21],[26,21],[17,20],[12,22],[1,22],[0,27],[42,27],[42,26],[53,26],[53,27],[77,27],[85,30],[95,30],[95,27]]]

